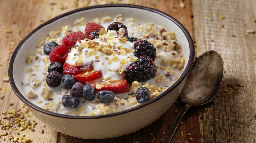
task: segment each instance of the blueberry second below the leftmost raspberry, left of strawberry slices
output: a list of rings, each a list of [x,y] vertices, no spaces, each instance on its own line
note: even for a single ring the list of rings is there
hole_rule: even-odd
[[[49,87],[57,87],[60,85],[61,75],[58,71],[52,71],[48,73],[46,77],[46,83]]]

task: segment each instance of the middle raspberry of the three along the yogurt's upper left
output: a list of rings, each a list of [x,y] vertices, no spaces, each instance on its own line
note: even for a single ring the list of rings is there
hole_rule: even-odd
[[[78,39],[84,40],[85,38],[87,38],[86,35],[81,31],[71,32],[65,37],[63,37],[61,43],[62,43],[62,46],[74,47]]]

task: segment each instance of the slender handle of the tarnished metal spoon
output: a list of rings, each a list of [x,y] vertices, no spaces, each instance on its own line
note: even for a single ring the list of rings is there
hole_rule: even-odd
[[[187,113],[188,109],[191,107],[191,105],[185,105],[182,107],[180,113],[178,114],[178,116],[176,117],[170,131],[167,133],[165,139],[163,140],[163,143],[170,143],[172,140],[172,137],[174,135],[174,133],[176,132],[176,129],[178,127],[178,125],[181,122],[181,119],[183,118],[183,116]]]

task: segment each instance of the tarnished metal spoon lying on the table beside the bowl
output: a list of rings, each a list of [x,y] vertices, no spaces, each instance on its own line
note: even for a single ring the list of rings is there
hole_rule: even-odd
[[[223,75],[223,59],[217,51],[207,51],[194,61],[180,94],[181,100],[186,105],[182,107],[163,143],[171,142],[182,117],[190,107],[212,101],[220,89]]]

